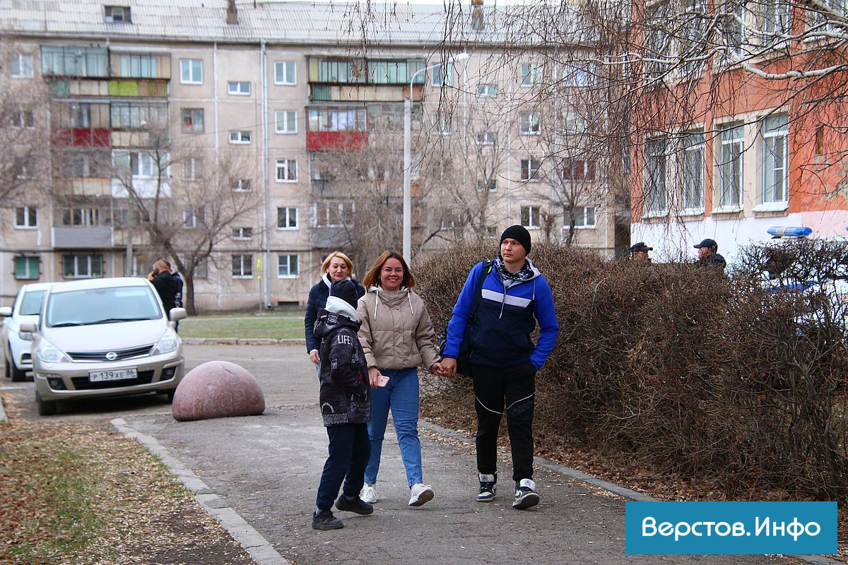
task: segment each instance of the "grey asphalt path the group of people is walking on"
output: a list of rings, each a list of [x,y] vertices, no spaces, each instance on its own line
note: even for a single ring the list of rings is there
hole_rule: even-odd
[[[553,463],[537,466],[535,479],[542,496],[538,507],[522,512],[510,506],[508,457],[500,463],[498,498],[479,503],[473,500],[477,478],[471,442],[423,423],[424,478],[433,485],[435,499],[423,507],[407,506],[409,489],[397,442],[388,434],[374,514],[338,512],[344,529],[315,531],[310,528],[310,513],[327,445],[315,402],[315,369],[304,361],[303,347],[272,346],[259,357],[256,349],[243,364],[259,374],[266,399],[274,401],[265,414],[198,422],[176,422],[161,413],[125,415],[116,424],[153,440],[176,473],[189,482],[199,481],[194,483],[199,500],[210,512],[239,524],[234,535],[243,545],[248,540],[261,565],[282,563],[282,557],[322,565],[787,562],[780,557],[625,556],[626,499]],[[204,357],[220,358],[222,353],[239,363],[247,348],[224,350],[193,346],[190,365],[208,360]],[[271,357],[277,362],[269,367]],[[270,547],[263,546],[263,540]]]

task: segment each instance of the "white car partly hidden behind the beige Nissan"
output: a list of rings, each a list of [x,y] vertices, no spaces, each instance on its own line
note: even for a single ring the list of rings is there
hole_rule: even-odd
[[[7,379],[24,380],[26,372],[32,370],[31,341],[22,339],[18,330],[22,323],[38,321],[50,286],[50,283],[23,285],[14,296],[12,306],[0,308],[0,316],[3,316],[0,345],[3,346],[3,374]]]

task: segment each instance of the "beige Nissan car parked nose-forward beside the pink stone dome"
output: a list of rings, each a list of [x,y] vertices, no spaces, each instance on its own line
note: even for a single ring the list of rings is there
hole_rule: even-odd
[[[172,400],[183,376],[182,342],[147,279],[88,279],[53,285],[30,332],[36,404],[43,415],[56,402],[145,392]]]

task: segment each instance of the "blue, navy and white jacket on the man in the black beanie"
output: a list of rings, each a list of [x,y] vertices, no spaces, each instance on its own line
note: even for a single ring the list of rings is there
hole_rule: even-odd
[[[528,262],[529,259],[527,259]],[[448,323],[444,357],[456,358],[465,335],[466,323],[483,263],[477,263],[468,274],[454,315]],[[554,349],[560,326],[556,322],[554,296],[544,276],[530,262],[533,279],[501,280],[494,266],[483,280],[482,296],[477,317],[471,325],[471,363],[488,366],[508,366],[527,363],[541,368]],[[538,344],[533,345],[530,334],[538,320]]]

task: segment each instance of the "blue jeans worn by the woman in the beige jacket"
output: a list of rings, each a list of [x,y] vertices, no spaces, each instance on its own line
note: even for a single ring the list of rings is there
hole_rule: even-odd
[[[380,373],[388,376],[388,385],[371,389],[371,422],[368,435],[371,437],[371,459],[365,468],[365,482],[377,482],[380,470],[382,440],[386,435],[388,409],[392,409],[394,432],[398,435],[400,459],[406,468],[406,482],[410,486],[422,483],[421,441],[418,440],[418,369],[387,368]]]

